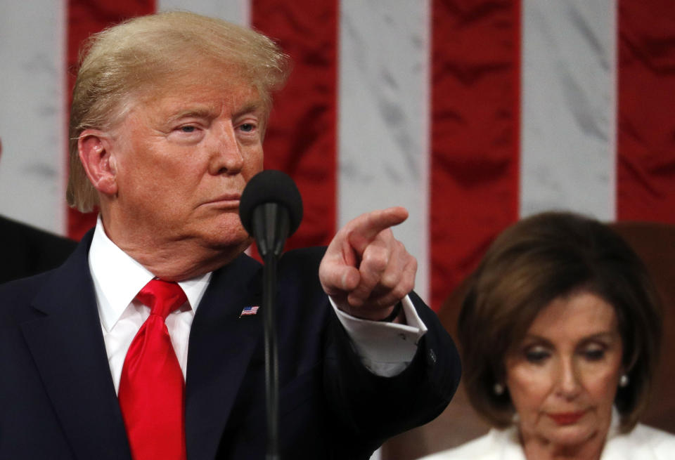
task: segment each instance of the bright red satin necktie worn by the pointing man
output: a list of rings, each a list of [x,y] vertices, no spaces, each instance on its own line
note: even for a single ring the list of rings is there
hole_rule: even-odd
[[[150,317],[124,358],[118,399],[134,460],[185,460],[185,384],[165,320],[186,301],[174,282],[151,280],[136,299]]]

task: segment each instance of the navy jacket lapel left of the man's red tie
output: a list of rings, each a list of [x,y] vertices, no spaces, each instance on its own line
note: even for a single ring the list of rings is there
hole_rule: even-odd
[[[21,327],[75,456],[131,459],[89,274],[90,243],[91,232],[34,298],[42,316]]]

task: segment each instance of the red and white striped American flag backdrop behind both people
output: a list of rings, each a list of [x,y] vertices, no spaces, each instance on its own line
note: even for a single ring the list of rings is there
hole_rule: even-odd
[[[672,0],[2,0],[1,214],[89,228],[64,199],[77,49],[170,8],[252,25],[293,57],[265,140],[304,199],[289,247],[406,206],[394,233],[439,308],[520,216],[675,223]]]

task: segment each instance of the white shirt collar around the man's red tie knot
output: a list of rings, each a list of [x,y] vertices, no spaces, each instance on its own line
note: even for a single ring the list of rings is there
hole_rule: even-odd
[[[94,280],[101,324],[106,331],[115,326],[136,294],[155,277],[105,235],[101,216],[96,221],[94,238],[89,247],[89,270]],[[208,272],[178,283],[188,298],[184,308],[191,308],[193,312],[197,310],[211,274]]]

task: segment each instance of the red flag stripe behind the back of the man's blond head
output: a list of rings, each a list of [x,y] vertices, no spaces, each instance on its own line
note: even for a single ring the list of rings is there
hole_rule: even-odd
[[[79,48],[91,34],[100,32],[110,25],[122,22],[134,16],[155,12],[154,0],[69,0],[68,1],[68,108],[72,100],[72,87],[75,85]],[[68,152],[68,145],[66,145]],[[66,159],[68,161],[68,159]],[[68,209],[68,236],[74,239],[82,235],[96,223],[96,213],[83,214]]]

